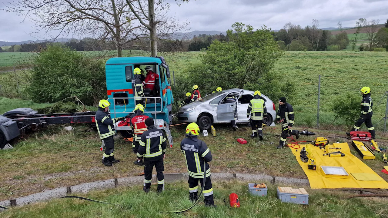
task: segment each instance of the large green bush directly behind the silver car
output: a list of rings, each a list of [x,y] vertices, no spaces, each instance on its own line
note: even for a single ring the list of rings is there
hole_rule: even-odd
[[[283,52],[271,31],[267,28],[254,31],[242,23],[235,23],[232,28],[227,31],[229,42],[214,40],[206,53],[200,55],[201,63],[189,66],[187,82],[178,87],[180,93],[175,96],[184,96],[195,84],[203,95],[217,87],[260,90],[272,99],[283,93],[293,95],[289,92],[293,90],[293,84],[285,83],[284,75],[272,71]]]

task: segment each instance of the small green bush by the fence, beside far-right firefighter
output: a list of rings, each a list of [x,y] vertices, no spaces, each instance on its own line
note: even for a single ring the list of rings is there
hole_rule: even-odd
[[[361,96],[348,93],[346,97],[338,96],[334,99],[333,111],[336,118],[345,120],[347,124],[352,124],[360,116]]]

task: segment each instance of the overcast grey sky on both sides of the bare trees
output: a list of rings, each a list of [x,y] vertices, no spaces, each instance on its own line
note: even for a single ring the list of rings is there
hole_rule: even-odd
[[[320,28],[354,26],[358,18],[388,19],[388,0],[191,0],[178,7],[171,2],[170,14],[181,21],[191,21],[190,31],[226,31],[234,22],[251,24],[254,28],[266,25],[281,29],[290,21],[302,27],[318,19]],[[7,0],[0,0],[0,9],[5,9]],[[0,10],[0,41],[17,42],[35,40],[43,35],[30,35],[34,29],[31,22],[16,14]],[[71,36],[63,36],[71,38]]]

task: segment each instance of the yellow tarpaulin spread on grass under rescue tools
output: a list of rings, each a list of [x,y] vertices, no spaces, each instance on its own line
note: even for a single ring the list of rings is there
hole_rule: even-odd
[[[305,171],[310,187],[312,189],[338,189],[338,188],[364,188],[364,189],[388,189],[388,183],[383,180],[376,172],[374,172],[369,166],[364,164],[360,159],[350,153],[348,143],[334,143],[330,147],[340,147],[341,151],[345,154],[344,157],[329,157],[322,156],[322,152],[319,147],[310,144],[310,149],[314,155],[317,170],[309,170],[308,163],[303,163],[300,159],[300,151],[304,146],[301,145],[298,151],[291,148],[291,151],[298,160],[298,163]],[[320,170],[320,166],[342,166],[348,172],[348,178],[326,178]],[[381,181],[360,181],[355,179],[351,173],[369,173],[376,178],[381,178]]]

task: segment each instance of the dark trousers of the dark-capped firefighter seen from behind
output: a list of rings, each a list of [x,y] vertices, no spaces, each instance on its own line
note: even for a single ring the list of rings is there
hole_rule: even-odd
[[[152,159],[154,159],[153,157]],[[147,157],[144,157],[144,186],[146,189],[151,187],[151,179],[152,179],[152,170],[155,166],[156,176],[158,177],[158,191],[165,189],[165,176],[163,175],[163,171],[165,170],[163,164],[163,156],[160,156],[160,159],[150,160]]]

